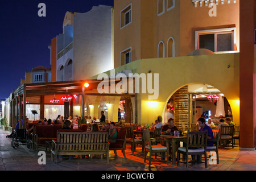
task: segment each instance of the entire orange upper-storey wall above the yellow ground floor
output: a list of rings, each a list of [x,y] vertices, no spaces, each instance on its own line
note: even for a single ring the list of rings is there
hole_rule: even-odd
[[[165,1],[166,2],[166,1]],[[132,3],[132,23],[120,29],[120,11]],[[175,56],[187,56],[195,51],[195,31],[236,27],[237,44],[240,47],[239,3],[224,0],[217,5],[217,16],[210,17],[210,7],[194,6],[192,1],[175,0],[175,7],[158,15],[158,1],[114,1],[114,68],[120,66],[120,52],[131,47],[132,61],[158,57],[158,44],[164,42],[167,56],[167,41],[175,41]]]

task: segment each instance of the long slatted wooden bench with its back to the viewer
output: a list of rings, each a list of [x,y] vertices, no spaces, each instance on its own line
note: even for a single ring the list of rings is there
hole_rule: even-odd
[[[57,132],[57,141],[52,140],[51,158],[57,163],[58,155],[93,155],[106,154],[109,163],[108,132]]]

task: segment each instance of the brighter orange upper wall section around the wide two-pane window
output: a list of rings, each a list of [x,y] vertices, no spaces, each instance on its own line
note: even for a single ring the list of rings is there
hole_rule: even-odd
[[[191,1],[181,0],[180,3],[180,53],[177,56],[187,56],[195,50],[195,31],[211,30],[218,28],[236,27],[237,49],[240,47],[240,22],[239,22],[239,3],[224,0],[221,5],[219,1],[217,5],[217,16],[210,17],[210,7],[197,7]],[[208,3],[209,5],[209,3]]]

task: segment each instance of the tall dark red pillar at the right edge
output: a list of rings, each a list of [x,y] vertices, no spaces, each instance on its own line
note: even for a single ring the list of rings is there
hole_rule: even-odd
[[[240,149],[255,150],[255,0],[240,1]]]

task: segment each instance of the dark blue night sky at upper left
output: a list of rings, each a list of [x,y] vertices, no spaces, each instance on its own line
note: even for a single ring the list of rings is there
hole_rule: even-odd
[[[46,17],[39,17],[39,3]],[[92,6],[114,5],[114,0],[0,0],[0,99],[20,85],[25,72],[38,65],[51,67],[48,46],[63,32],[67,11],[85,13]]]

